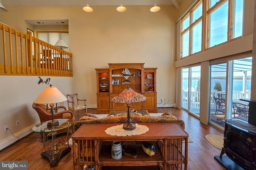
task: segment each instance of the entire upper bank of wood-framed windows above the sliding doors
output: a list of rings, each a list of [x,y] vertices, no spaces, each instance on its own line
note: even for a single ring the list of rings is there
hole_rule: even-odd
[[[243,4],[244,0],[200,0],[195,4],[181,18],[180,58],[241,37]]]

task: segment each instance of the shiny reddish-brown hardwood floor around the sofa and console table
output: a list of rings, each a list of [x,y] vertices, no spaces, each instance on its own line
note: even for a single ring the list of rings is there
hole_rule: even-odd
[[[158,113],[168,110],[168,107],[158,108]],[[88,109],[88,113],[107,114],[106,112],[96,112],[95,109]],[[149,113],[156,113],[150,112]],[[188,170],[225,170],[225,168],[214,159],[221,150],[213,147],[205,138],[207,134],[222,135],[218,129],[200,123],[198,119],[189,115],[186,111],[175,108],[174,115],[185,122],[185,130],[189,134],[192,143],[188,143]],[[82,117],[75,115],[76,120]],[[71,137],[71,133],[69,138]],[[56,138],[65,139],[66,135],[58,135]],[[57,139],[58,141],[58,139]],[[49,140],[49,142],[51,142]],[[61,148],[62,146],[58,146]],[[48,146],[46,146],[48,149]],[[0,160],[27,160],[28,170],[72,170],[73,156],[72,150],[64,155],[56,166],[50,167],[49,161],[40,156],[43,150],[43,143],[39,133],[31,133],[27,137],[20,139],[13,145],[0,151]]]

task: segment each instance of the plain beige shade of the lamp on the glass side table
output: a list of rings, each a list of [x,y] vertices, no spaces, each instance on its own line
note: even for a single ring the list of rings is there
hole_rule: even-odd
[[[46,87],[34,100],[36,104],[53,104],[66,101],[67,98],[53,86]]]

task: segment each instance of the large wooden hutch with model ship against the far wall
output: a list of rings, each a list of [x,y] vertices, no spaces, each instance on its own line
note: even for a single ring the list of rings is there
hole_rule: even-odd
[[[124,104],[113,103],[127,86],[144,95],[144,102],[132,103],[131,109],[157,111],[156,107],[156,69],[144,68],[145,63],[108,63],[109,68],[95,68],[97,76],[97,111],[126,110]],[[122,72],[125,68],[129,76]]]

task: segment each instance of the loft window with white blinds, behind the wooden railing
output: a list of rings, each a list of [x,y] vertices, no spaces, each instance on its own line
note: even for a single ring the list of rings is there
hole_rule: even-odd
[[[55,45],[59,39],[62,39],[69,47],[69,37],[66,32],[38,32],[38,39],[51,45]],[[69,48],[64,50],[69,52]]]

